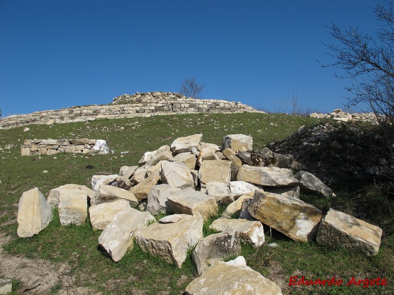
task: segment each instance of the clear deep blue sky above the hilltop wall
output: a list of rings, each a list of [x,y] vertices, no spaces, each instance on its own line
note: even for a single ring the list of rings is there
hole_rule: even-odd
[[[382,0],[383,4],[387,1]],[[2,116],[204,84],[205,99],[343,107],[324,25],[378,23],[373,0],[0,0]],[[337,70],[336,70],[337,71]]]

